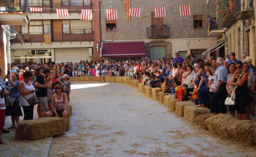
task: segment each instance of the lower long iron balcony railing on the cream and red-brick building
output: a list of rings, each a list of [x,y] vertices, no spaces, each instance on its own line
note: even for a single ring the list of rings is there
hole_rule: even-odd
[[[44,33],[23,33],[21,34],[25,43],[44,43],[46,37]],[[80,42],[80,41],[93,41],[94,32],[53,32],[50,36],[52,42]],[[11,43],[20,43],[20,40],[15,38],[11,40]]]

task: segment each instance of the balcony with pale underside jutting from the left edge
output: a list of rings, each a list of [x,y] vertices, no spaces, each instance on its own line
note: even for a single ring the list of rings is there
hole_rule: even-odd
[[[29,21],[27,12],[19,6],[11,5],[0,8],[0,25],[26,25]]]

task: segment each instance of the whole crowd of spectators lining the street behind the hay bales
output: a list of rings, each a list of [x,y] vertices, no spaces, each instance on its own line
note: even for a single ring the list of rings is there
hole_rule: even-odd
[[[12,63],[12,73],[0,78],[0,135],[8,132],[3,128],[5,116],[12,117],[12,126],[8,129],[16,127],[22,116],[21,107],[24,120],[33,119],[36,104],[39,118],[59,116],[67,119],[69,77],[81,76],[102,76],[103,81],[105,76],[134,77],[145,86],[159,87],[164,93],[175,95],[178,101],[191,100],[212,113],[230,111],[239,120],[250,120],[250,116],[255,116],[255,74],[252,59],[242,53],[241,60],[237,60],[235,52],[225,58],[205,58],[204,55],[195,58],[193,54],[182,58],[175,53],[175,58],[167,56],[156,61],[145,57],[144,61],[116,62],[101,57],[98,61],[80,60],[74,64]],[[0,143],[5,142],[1,140]]]

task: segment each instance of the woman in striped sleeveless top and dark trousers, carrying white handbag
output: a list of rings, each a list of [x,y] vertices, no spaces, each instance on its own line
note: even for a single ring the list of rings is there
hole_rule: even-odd
[[[227,75],[226,89],[227,89],[228,97],[230,97],[232,91],[234,90],[234,87],[230,85],[230,81],[233,79],[233,77],[234,77],[234,75],[235,75],[235,64],[234,64],[234,63],[230,63],[230,64],[228,65],[227,70],[229,71],[229,74]],[[231,99],[231,98],[230,98],[230,99]],[[230,110],[231,116],[235,117],[236,106],[235,106],[235,105],[229,105],[228,108],[229,108],[229,110]]]

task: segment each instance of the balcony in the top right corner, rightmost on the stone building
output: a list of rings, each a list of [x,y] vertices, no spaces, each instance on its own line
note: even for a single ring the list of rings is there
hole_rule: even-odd
[[[253,0],[235,0],[235,17],[237,20],[248,20],[254,16]]]

